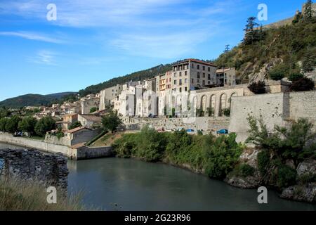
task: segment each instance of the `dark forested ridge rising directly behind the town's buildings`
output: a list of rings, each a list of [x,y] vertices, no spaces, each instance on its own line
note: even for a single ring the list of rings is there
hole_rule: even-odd
[[[156,77],[159,74],[165,73],[168,70],[171,70],[171,68],[172,68],[171,64],[158,65],[154,68],[141,70],[138,72],[133,72],[123,77],[115,77],[113,79],[108,80],[107,82],[88,86],[86,89],[80,90],[79,94],[81,96],[86,96],[87,94],[96,94],[103,89],[106,89],[111,86],[115,86],[117,84],[124,84],[125,82],[129,82],[131,80],[138,81],[138,80],[150,79],[150,78]]]

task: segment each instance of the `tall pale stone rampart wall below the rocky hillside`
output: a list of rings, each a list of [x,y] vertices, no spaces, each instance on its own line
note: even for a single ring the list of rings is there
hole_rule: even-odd
[[[237,133],[237,141],[248,137],[247,117],[262,117],[268,130],[275,125],[287,126],[291,120],[307,118],[316,128],[316,91],[261,94],[233,98],[229,131]]]

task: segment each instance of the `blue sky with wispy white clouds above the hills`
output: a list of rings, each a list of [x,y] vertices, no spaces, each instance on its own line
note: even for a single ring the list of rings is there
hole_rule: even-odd
[[[268,6],[265,25],[293,16],[304,2],[0,0],[0,101],[79,91],[185,58],[215,59],[226,44],[239,44],[258,4]]]

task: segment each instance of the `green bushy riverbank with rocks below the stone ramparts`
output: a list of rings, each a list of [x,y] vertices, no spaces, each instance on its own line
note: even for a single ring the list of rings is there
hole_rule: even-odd
[[[289,136],[301,135],[295,129],[305,125],[303,120],[295,124]],[[287,139],[274,138],[273,143],[279,148],[287,143]],[[114,152],[121,158],[140,158],[189,169],[238,188],[266,186],[278,191],[281,198],[316,203],[316,160],[312,145],[296,145],[300,151],[295,149],[293,153],[301,154],[296,160],[260,146],[246,147],[235,139],[235,134],[191,136],[184,130],[170,134],[147,127],[115,141]],[[285,149],[292,151],[291,146]]]

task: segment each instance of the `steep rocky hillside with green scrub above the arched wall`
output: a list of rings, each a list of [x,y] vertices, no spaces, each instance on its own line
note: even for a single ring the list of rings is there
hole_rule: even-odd
[[[269,77],[277,70],[284,77],[311,72],[316,66],[316,20],[257,29],[252,43],[241,44],[214,60],[218,67],[235,67],[239,82],[253,82]]]

